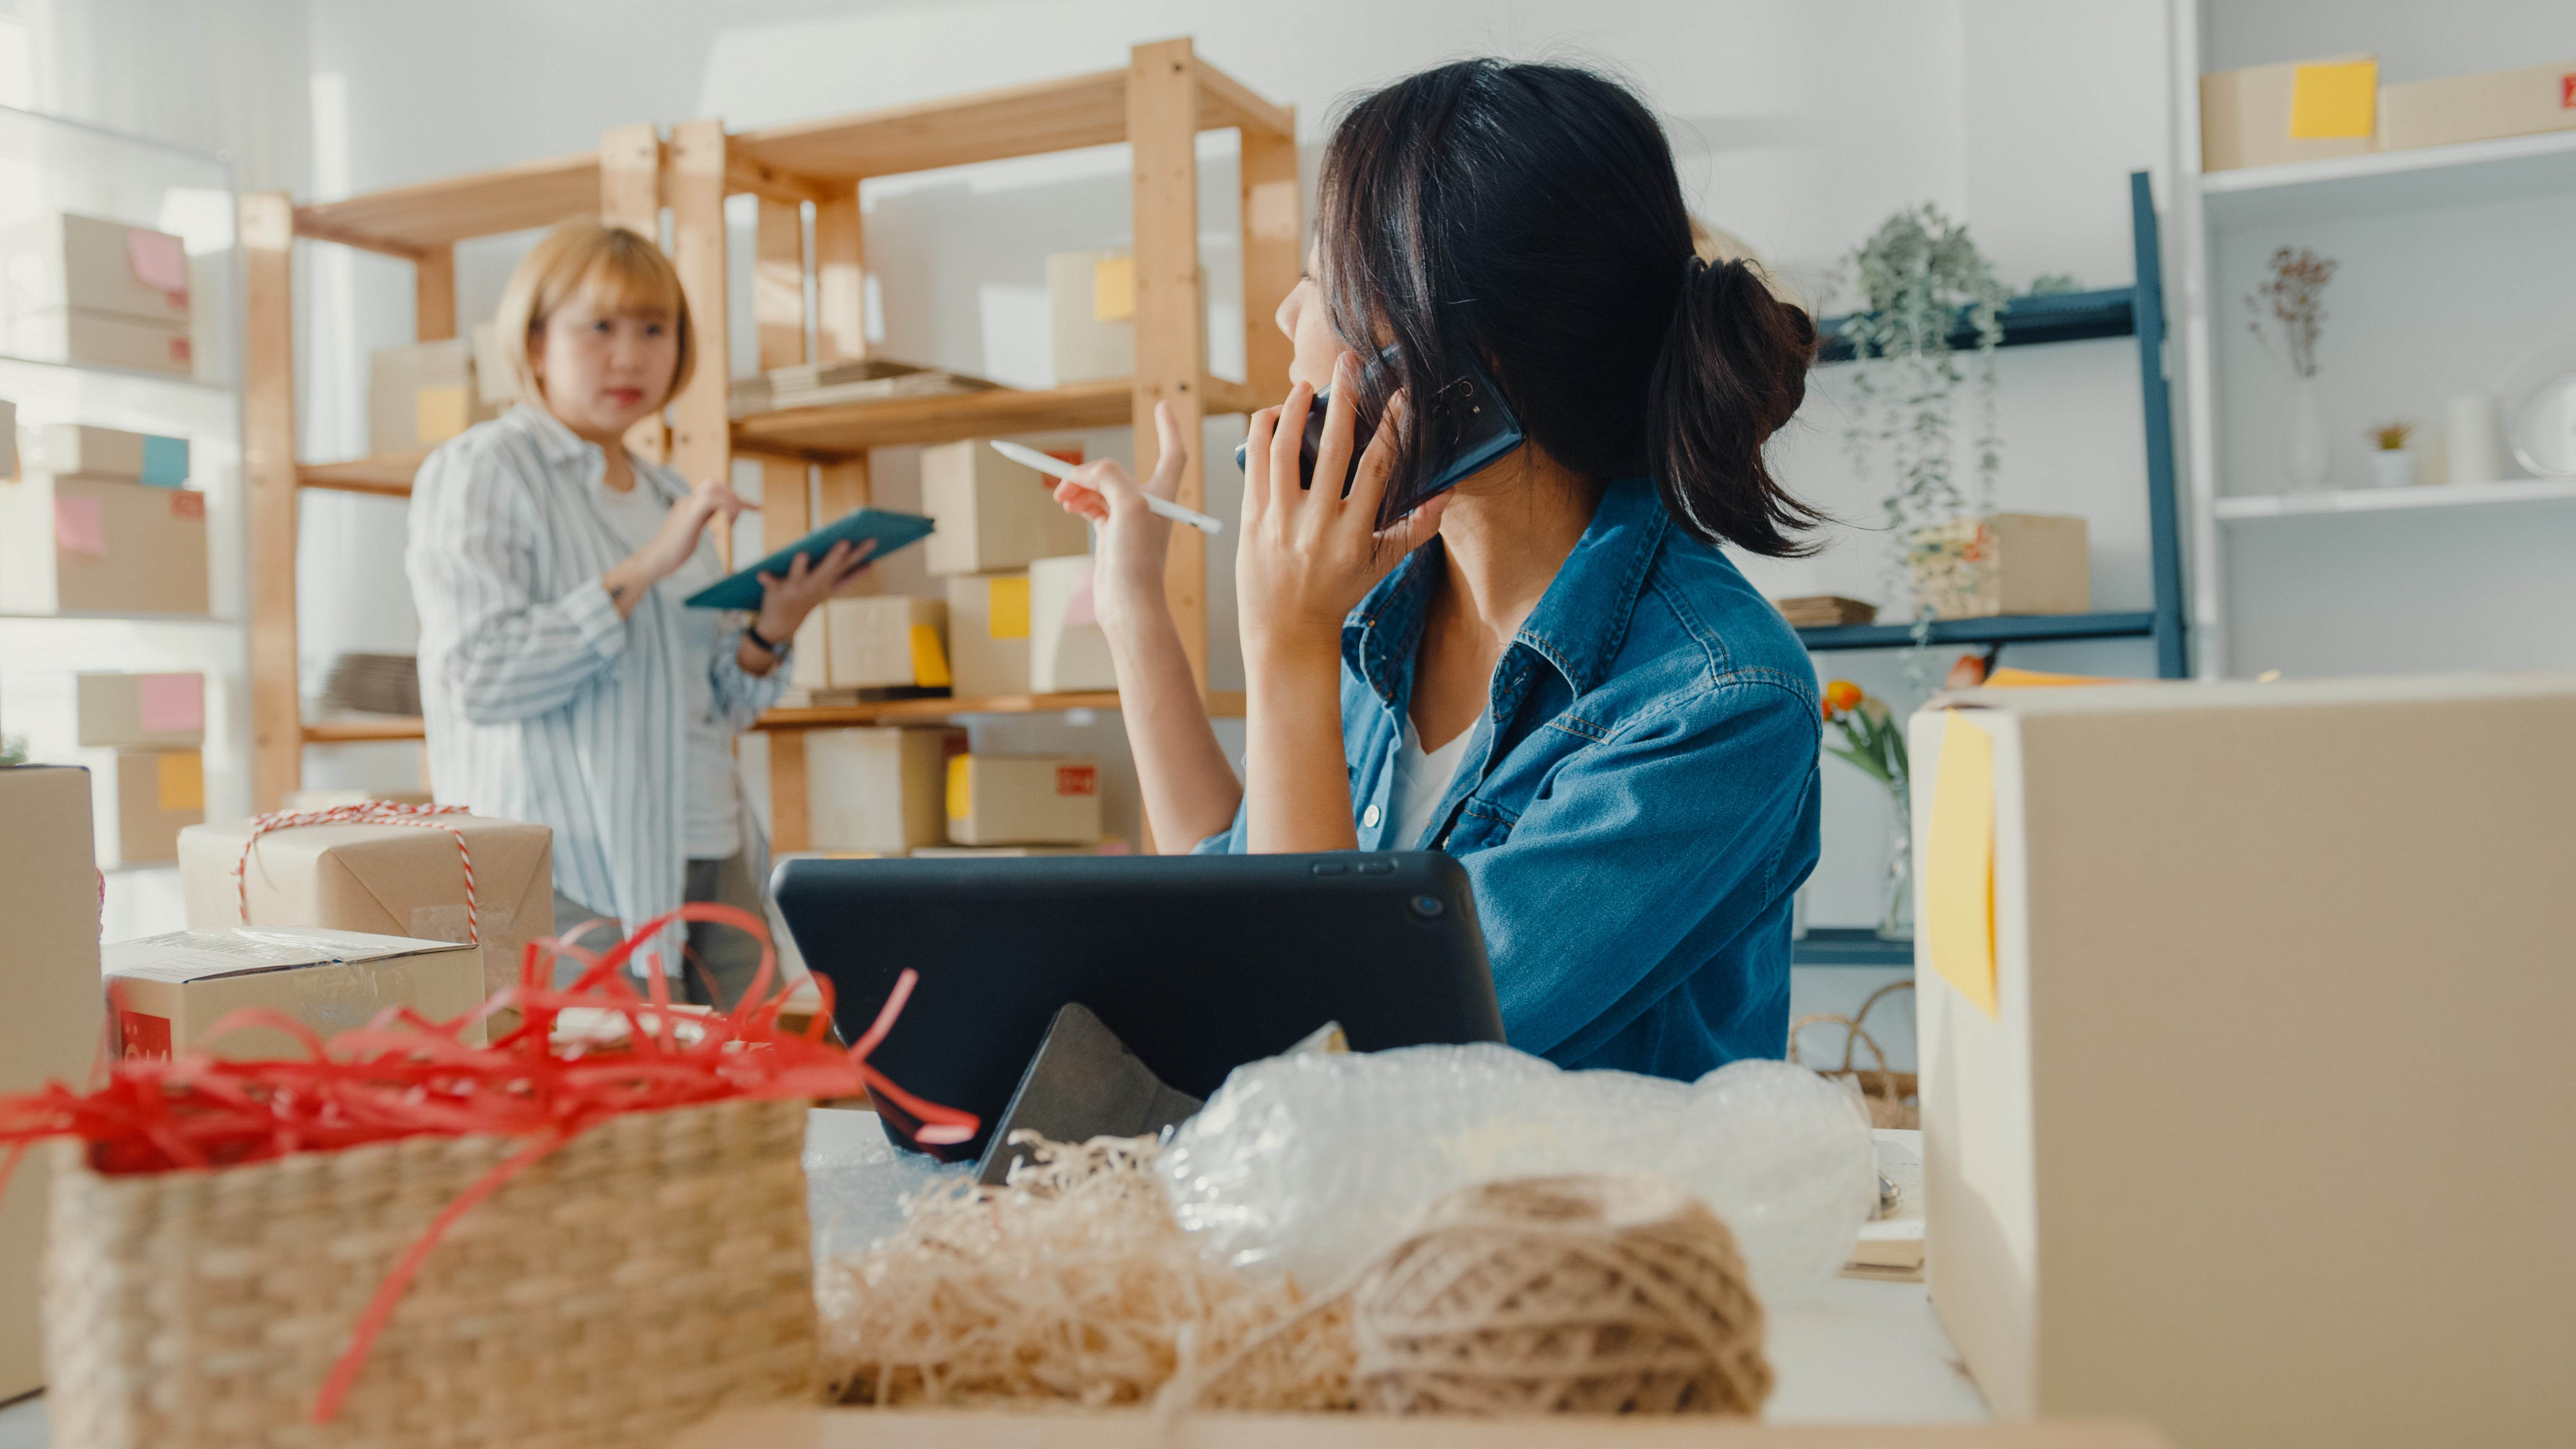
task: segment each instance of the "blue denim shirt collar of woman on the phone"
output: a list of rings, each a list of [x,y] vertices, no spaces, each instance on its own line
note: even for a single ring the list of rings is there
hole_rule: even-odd
[[[1538,608],[1522,619],[1512,637],[1517,647],[1494,670],[1494,724],[1504,724],[1528,696],[1533,670],[1515,657],[1520,650],[1546,660],[1574,696],[1589,694],[1610,676],[1667,529],[1672,518],[1651,480],[1620,477],[1602,487],[1592,523],[1556,570]],[[1414,655],[1422,650],[1437,567],[1440,554],[1432,547],[1414,549],[1342,621],[1342,663],[1391,712],[1412,704]]]

